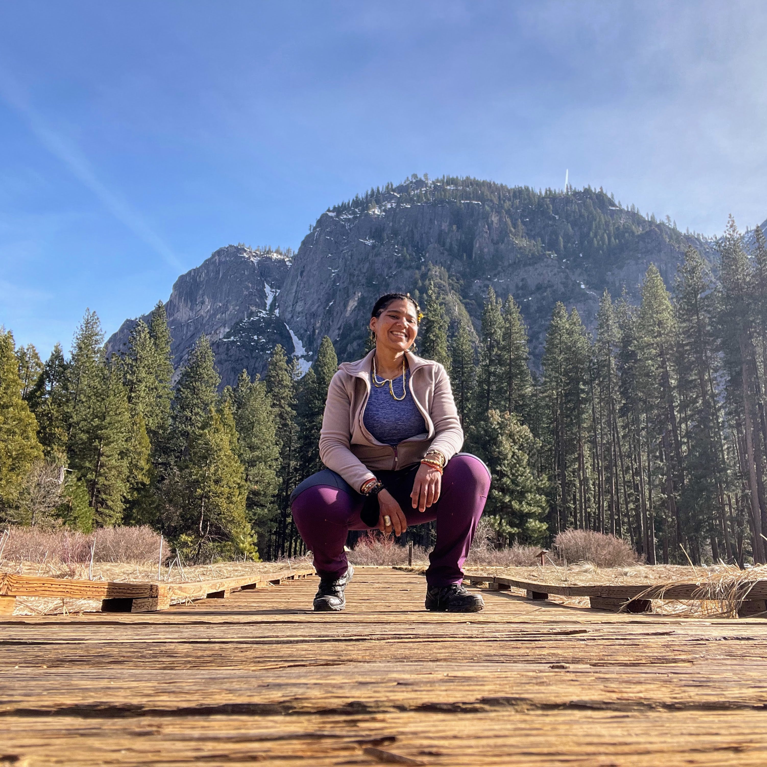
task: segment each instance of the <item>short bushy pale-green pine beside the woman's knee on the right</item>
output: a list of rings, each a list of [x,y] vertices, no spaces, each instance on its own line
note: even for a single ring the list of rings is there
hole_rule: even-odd
[[[477,455],[492,475],[485,514],[493,528],[507,545],[542,543],[547,532],[546,499],[544,483],[529,466],[528,453],[535,441],[530,430],[515,414],[490,410],[475,439]]]

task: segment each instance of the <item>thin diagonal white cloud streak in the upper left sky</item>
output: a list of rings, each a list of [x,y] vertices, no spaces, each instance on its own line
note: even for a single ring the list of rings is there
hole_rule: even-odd
[[[40,115],[28,104],[18,84],[2,69],[0,69],[0,98],[25,120],[38,141],[53,156],[61,160],[72,175],[87,189],[91,189],[91,192],[118,221],[127,226],[139,239],[146,242],[168,265],[176,269],[183,267],[173,251],[163,242],[163,239],[147,225],[141,214],[120,196],[107,189],[107,186],[104,186],[83,153],[59,133],[48,127]]]

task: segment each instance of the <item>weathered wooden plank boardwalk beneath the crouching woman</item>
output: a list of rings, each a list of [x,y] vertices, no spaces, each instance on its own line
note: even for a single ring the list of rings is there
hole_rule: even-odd
[[[767,621],[609,614],[359,568],[158,613],[0,618],[0,765],[764,765]]]

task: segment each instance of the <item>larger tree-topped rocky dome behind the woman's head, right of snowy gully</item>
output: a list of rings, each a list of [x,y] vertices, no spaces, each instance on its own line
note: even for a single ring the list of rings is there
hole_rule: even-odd
[[[281,316],[315,351],[364,347],[370,307],[388,291],[423,295],[436,278],[454,318],[479,329],[489,286],[522,306],[534,362],[556,301],[593,326],[605,288],[617,298],[654,262],[670,285],[686,245],[708,246],[617,205],[601,192],[535,193],[473,179],[422,179],[325,212],[301,243],[278,296]]]

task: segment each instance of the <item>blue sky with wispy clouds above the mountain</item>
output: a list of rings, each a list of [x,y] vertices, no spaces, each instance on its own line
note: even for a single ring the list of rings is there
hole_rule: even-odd
[[[767,216],[763,2],[3,2],[0,324],[107,334],[410,173]]]

